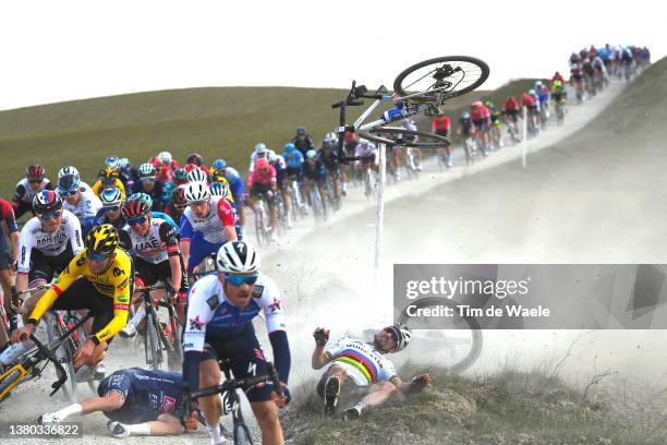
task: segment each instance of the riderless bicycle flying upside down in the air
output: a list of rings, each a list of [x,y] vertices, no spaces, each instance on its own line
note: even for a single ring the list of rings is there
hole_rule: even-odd
[[[388,94],[383,85],[374,94],[368,94],[364,85],[352,87],[344,100],[333,104],[332,108],[340,108],[338,127],[339,151],[342,152],[344,134],[348,131],[356,132],[361,137],[393,146],[398,135],[403,135],[401,145],[414,148],[439,148],[450,145],[447,137],[417,130],[408,130],[402,127],[387,127],[392,122],[424,112],[433,117],[439,113],[438,107],[449,98],[469,93],[486,81],[488,65],[480,59],[468,56],[447,56],[428,59],[403,70],[393,81],[395,94]],[[348,107],[363,105],[364,98],[375,101],[354,121],[348,125],[345,110]],[[364,123],[371,113],[383,101],[390,101],[393,108],[383,112],[378,120]],[[381,136],[380,136],[381,134]],[[416,136],[416,137],[415,137]],[[355,158],[342,158],[350,161]]]

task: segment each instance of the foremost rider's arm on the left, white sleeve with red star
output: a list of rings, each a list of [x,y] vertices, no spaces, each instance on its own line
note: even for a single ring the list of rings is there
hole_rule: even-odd
[[[183,334],[183,383],[190,383],[193,389],[199,387],[199,361],[204,352],[206,324],[214,314],[206,301],[210,298],[206,290],[206,284],[199,281],[198,286],[195,285],[190,291]]]

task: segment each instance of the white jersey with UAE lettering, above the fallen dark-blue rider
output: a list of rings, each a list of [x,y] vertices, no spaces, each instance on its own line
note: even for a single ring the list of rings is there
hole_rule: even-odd
[[[150,229],[145,237],[141,237],[128,225],[123,227],[121,242],[140,258],[159,264],[169,260],[170,252],[179,251],[179,241],[175,229],[161,218],[150,219]]]

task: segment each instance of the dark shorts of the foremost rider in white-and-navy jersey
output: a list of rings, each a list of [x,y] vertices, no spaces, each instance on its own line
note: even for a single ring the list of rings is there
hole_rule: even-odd
[[[234,378],[268,373],[266,359],[252,323],[247,323],[246,327],[233,337],[217,337],[207,330],[205,341],[202,361],[230,359]],[[271,384],[262,387],[253,386],[245,392],[245,395],[250,401],[267,401],[271,399]]]

